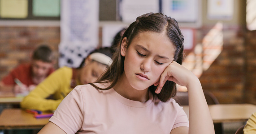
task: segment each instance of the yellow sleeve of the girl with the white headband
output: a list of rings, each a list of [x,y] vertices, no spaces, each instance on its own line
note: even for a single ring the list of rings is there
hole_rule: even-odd
[[[57,100],[46,98],[50,95],[61,96],[62,90],[69,90],[71,78],[71,68],[57,69],[23,99],[21,107],[41,111],[56,110],[64,97],[58,97]]]

